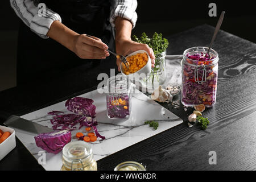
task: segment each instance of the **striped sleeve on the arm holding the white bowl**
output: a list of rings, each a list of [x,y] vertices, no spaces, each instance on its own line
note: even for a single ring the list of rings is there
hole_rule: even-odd
[[[137,21],[137,0],[113,0],[112,1],[112,10],[110,13],[110,23],[112,27],[115,27],[114,21],[117,16],[130,20],[135,27]]]

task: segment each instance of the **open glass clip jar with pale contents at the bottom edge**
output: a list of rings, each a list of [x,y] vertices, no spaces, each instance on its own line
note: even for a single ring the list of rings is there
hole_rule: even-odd
[[[62,151],[61,171],[97,171],[90,144],[84,141],[70,142]]]

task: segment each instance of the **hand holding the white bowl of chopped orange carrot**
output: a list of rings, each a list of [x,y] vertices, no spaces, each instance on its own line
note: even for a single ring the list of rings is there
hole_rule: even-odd
[[[148,55],[151,58],[152,67],[155,67],[154,52],[152,48],[148,47],[147,44],[140,44],[140,43],[134,42],[133,40],[119,39],[119,40],[115,40],[115,50],[118,54],[121,54],[123,56],[129,55],[130,53],[138,50],[147,51]],[[120,64],[121,64],[121,60],[117,59],[118,71],[120,71]]]

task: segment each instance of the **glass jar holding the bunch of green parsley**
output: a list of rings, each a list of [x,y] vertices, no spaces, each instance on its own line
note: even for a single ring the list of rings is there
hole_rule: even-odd
[[[148,89],[158,88],[166,80],[166,51],[155,54],[155,67],[150,75],[142,79],[142,85]]]

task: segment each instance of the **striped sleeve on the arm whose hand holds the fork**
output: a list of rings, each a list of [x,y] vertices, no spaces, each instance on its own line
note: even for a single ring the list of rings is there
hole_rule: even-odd
[[[32,0],[10,0],[10,3],[16,15],[41,38],[48,38],[47,32],[53,21],[61,22],[59,14],[44,6],[39,6],[39,9]]]

